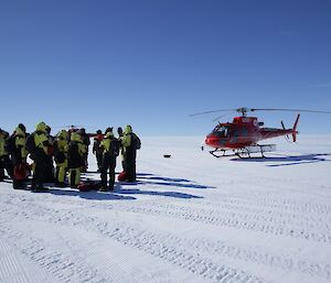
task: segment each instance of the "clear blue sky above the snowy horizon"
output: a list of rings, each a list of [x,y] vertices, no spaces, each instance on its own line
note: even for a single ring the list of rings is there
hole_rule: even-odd
[[[217,115],[190,113],[331,111],[330,14],[328,0],[0,1],[0,127],[203,135]],[[299,130],[331,133],[331,116],[303,113]]]

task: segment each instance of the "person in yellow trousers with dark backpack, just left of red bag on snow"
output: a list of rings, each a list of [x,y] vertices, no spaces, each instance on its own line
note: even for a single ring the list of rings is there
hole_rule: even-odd
[[[81,134],[78,132],[72,132],[67,152],[70,185],[72,188],[76,188],[81,182],[81,170],[85,153],[86,146],[83,143]]]

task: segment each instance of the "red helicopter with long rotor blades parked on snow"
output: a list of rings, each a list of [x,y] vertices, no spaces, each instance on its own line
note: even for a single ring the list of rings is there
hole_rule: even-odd
[[[319,112],[331,113],[329,111],[314,111],[314,110],[299,110],[299,109],[257,109],[257,108],[237,108],[231,110],[215,110],[201,113],[194,113],[191,116],[206,115],[220,111],[237,111],[242,113],[239,117],[233,118],[232,122],[221,123],[214,128],[214,130],[206,135],[204,143],[214,150],[210,151],[215,157],[237,155],[242,157],[250,157],[252,153],[260,153],[261,157],[265,157],[265,152],[276,151],[276,144],[258,144],[259,141],[285,135],[289,139],[289,134],[292,137],[292,141],[297,140],[297,127],[300,115],[297,116],[295,124],[291,129],[286,129],[282,121],[282,129],[277,128],[263,128],[264,122],[259,122],[256,117],[247,117],[247,112],[254,111],[296,111],[296,112]],[[202,146],[202,150],[204,146]],[[231,154],[228,154],[231,152]],[[218,153],[222,153],[221,155]]]

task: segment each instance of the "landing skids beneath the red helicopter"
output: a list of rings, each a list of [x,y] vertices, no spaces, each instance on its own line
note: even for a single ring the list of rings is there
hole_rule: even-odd
[[[232,151],[231,154],[227,154],[229,151]],[[273,152],[276,151],[276,144],[256,144],[256,145],[249,145],[236,150],[224,150],[224,149],[215,149],[213,151],[210,151],[210,153],[220,159],[224,156],[238,156],[239,159],[265,159],[265,152]],[[216,153],[223,153],[223,154],[216,154]],[[252,156],[252,153],[260,153],[260,156]]]

